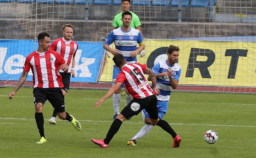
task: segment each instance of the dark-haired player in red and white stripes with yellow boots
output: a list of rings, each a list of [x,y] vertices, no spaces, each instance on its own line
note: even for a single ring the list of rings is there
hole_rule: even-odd
[[[56,109],[60,119],[68,120],[77,129],[81,130],[81,124],[68,112],[65,112],[64,96],[60,88],[63,87],[61,76],[58,72],[62,69],[68,71],[68,65],[61,58],[60,54],[55,51],[48,50],[50,47],[50,36],[48,33],[40,33],[38,35],[38,49],[29,54],[23,67],[23,73],[13,92],[9,94],[9,99],[20,89],[26,81],[28,72],[31,68],[33,73],[33,94],[34,104],[36,108],[35,119],[41,139],[36,142],[38,144],[46,143],[44,136],[44,116],[43,105],[46,100]]]

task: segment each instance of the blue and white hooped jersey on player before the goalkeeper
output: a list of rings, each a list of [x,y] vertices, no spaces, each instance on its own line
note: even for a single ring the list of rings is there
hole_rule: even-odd
[[[110,45],[115,41],[116,49],[120,54],[124,55],[124,58],[129,63],[137,62],[137,57],[130,57],[132,51],[136,50],[137,43],[144,44],[141,33],[139,30],[130,28],[130,31],[124,32],[122,27],[111,31],[105,40],[105,44]]]

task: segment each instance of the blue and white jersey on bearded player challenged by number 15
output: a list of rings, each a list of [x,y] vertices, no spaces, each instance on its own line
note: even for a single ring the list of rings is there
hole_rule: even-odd
[[[181,67],[178,63],[175,63],[173,66],[168,65],[167,61],[159,61],[152,68],[155,74],[160,74],[163,72],[168,72],[168,69],[172,70],[172,77],[175,80],[180,80]],[[160,95],[157,96],[157,100],[168,101],[170,100],[171,95],[171,85],[168,76],[162,76],[156,79],[156,87],[160,90]]]

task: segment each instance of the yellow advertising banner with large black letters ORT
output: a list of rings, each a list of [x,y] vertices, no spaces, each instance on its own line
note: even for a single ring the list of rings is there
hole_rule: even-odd
[[[146,57],[138,62],[152,68],[167,59],[170,45],[180,47],[180,85],[256,87],[256,42],[145,39]],[[101,82],[112,82],[113,61],[106,58]]]

